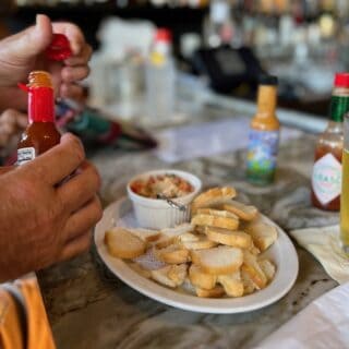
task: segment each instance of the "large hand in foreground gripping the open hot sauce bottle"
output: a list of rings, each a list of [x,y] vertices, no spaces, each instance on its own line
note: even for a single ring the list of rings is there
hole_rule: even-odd
[[[88,249],[91,228],[101,217],[99,185],[96,168],[85,160],[80,140],[71,134],[1,174],[0,281]]]

